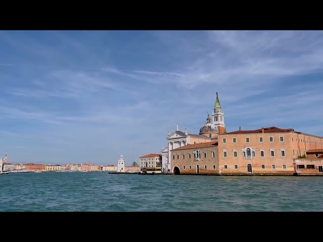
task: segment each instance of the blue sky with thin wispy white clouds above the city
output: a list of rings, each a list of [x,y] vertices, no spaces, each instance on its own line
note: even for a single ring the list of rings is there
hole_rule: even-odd
[[[216,92],[227,132],[323,136],[322,78],[323,31],[0,31],[0,156],[131,165]]]

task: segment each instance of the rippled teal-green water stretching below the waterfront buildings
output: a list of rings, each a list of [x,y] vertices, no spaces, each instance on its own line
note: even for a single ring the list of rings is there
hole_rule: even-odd
[[[321,177],[30,172],[0,191],[0,211],[323,211]]]

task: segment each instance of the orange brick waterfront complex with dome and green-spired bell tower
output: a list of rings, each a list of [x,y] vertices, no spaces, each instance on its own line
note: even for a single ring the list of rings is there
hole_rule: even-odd
[[[213,126],[207,127],[208,124]],[[163,158],[170,158],[171,173],[323,174],[323,137],[277,127],[257,130],[239,127],[227,133],[218,95],[212,121],[208,115],[199,135],[205,136],[207,131],[213,131],[208,134],[208,142],[186,142],[176,148],[170,143],[177,133],[168,137],[169,145],[163,149]],[[302,158],[306,156],[307,159]]]

